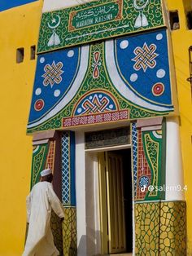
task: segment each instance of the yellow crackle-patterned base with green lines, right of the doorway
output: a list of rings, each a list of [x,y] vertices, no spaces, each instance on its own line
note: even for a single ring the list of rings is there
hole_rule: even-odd
[[[135,255],[186,255],[185,201],[136,203]]]

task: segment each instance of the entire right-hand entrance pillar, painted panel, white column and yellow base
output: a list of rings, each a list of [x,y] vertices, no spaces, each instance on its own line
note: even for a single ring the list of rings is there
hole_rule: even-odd
[[[155,117],[133,123],[132,145],[135,255],[185,255],[177,121]]]

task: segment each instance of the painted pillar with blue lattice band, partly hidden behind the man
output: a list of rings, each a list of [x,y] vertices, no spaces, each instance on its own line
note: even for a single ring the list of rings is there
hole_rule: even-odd
[[[60,255],[76,255],[75,135],[71,131],[46,131],[33,136],[31,187],[44,168],[53,171],[53,187],[63,204],[63,228],[52,212],[50,226]],[[63,231],[63,234],[62,234]]]

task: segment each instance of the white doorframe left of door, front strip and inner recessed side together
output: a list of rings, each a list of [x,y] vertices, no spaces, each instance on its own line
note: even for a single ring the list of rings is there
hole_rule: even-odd
[[[77,255],[101,254],[98,198],[98,154],[85,154],[83,132],[76,132]]]

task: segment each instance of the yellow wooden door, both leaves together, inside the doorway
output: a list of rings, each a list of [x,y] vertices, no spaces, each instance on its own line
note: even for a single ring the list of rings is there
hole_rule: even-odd
[[[102,227],[104,239],[102,241],[103,253],[123,253],[126,252],[126,239],[122,157],[113,152],[99,153],[98,163],[100,173],[100,208],[102,209],[101,223],[104,227]],[[105,242],[106,236],[107,245]]]

